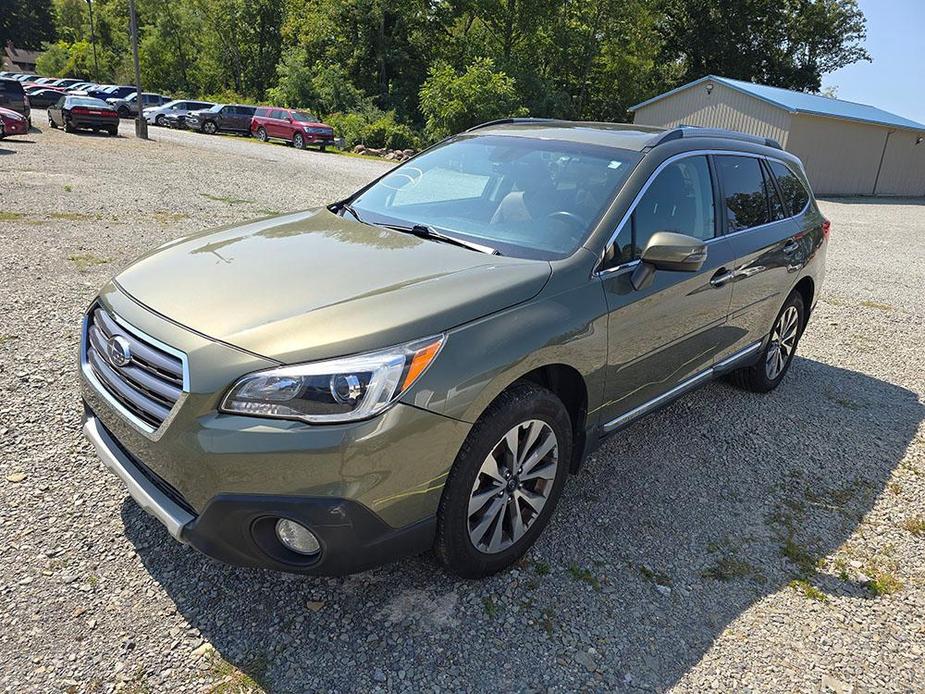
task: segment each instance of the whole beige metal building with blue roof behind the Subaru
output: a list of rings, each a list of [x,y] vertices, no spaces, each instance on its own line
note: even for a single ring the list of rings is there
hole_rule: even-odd
[[[641,125],[771,137],[820,195],[925,196],[925,125],[874,106],[707,75],[630,111]]]

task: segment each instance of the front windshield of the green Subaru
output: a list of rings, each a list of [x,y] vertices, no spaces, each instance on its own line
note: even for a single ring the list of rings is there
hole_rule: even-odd
[[[363,221],[431,226],[504,255],[573,253],[638,163],[625,149],[509,135],[463,136],[352,200]]]

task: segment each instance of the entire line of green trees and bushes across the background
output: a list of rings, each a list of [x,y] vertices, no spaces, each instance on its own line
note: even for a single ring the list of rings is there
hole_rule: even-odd
[[[0,0],[46,74],[131,81],[127,0]],[[706,73],[818,91],[858,60],[857,0],[137,0],[145,89],[303,107],[401,146],[529,114],[625,121]]]

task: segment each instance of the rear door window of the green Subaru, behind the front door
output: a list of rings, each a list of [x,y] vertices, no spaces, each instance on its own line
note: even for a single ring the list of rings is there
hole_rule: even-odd
[[[723,190],[723,204],[729,231],[742,231],[767,224],[771,216],[773,184],[767,180],[761,162],[754,157],[715,157],[716,172]]]

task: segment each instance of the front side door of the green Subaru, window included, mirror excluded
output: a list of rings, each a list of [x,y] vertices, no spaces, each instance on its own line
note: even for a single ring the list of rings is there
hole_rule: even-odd
[[[735,254],[721,234],[717,203],[709,157],[673,157],[640,190],[608,248],[610,267],[600,273],[609,312],[605,431],[705,377],[736,340],[726,325],[732,289],[723,281]],[[657,231],[703,240],[707,258],[696,272],[656,270],[648,286],[635,289],[632,275]]]

